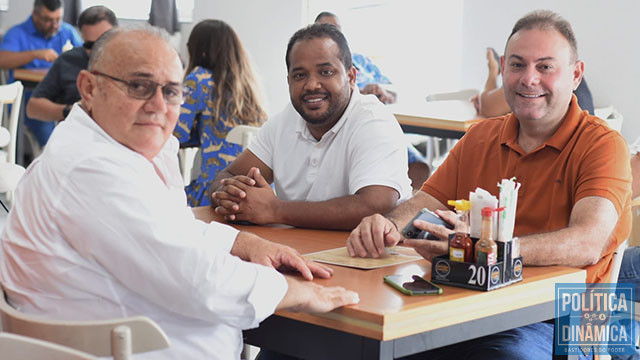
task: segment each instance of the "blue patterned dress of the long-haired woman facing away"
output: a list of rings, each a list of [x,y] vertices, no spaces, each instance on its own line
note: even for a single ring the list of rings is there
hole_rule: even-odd
[[[218,171],[229,165],[242,151],[225,138],[234,121],[221,109],[216,121],[216,89],[211,71],[196,66],[184,81],[188,95],[180,109],[173,135],[182,147],[201,147],[200,175],[185,187],[189,206],[210,205],[207,189]]]

